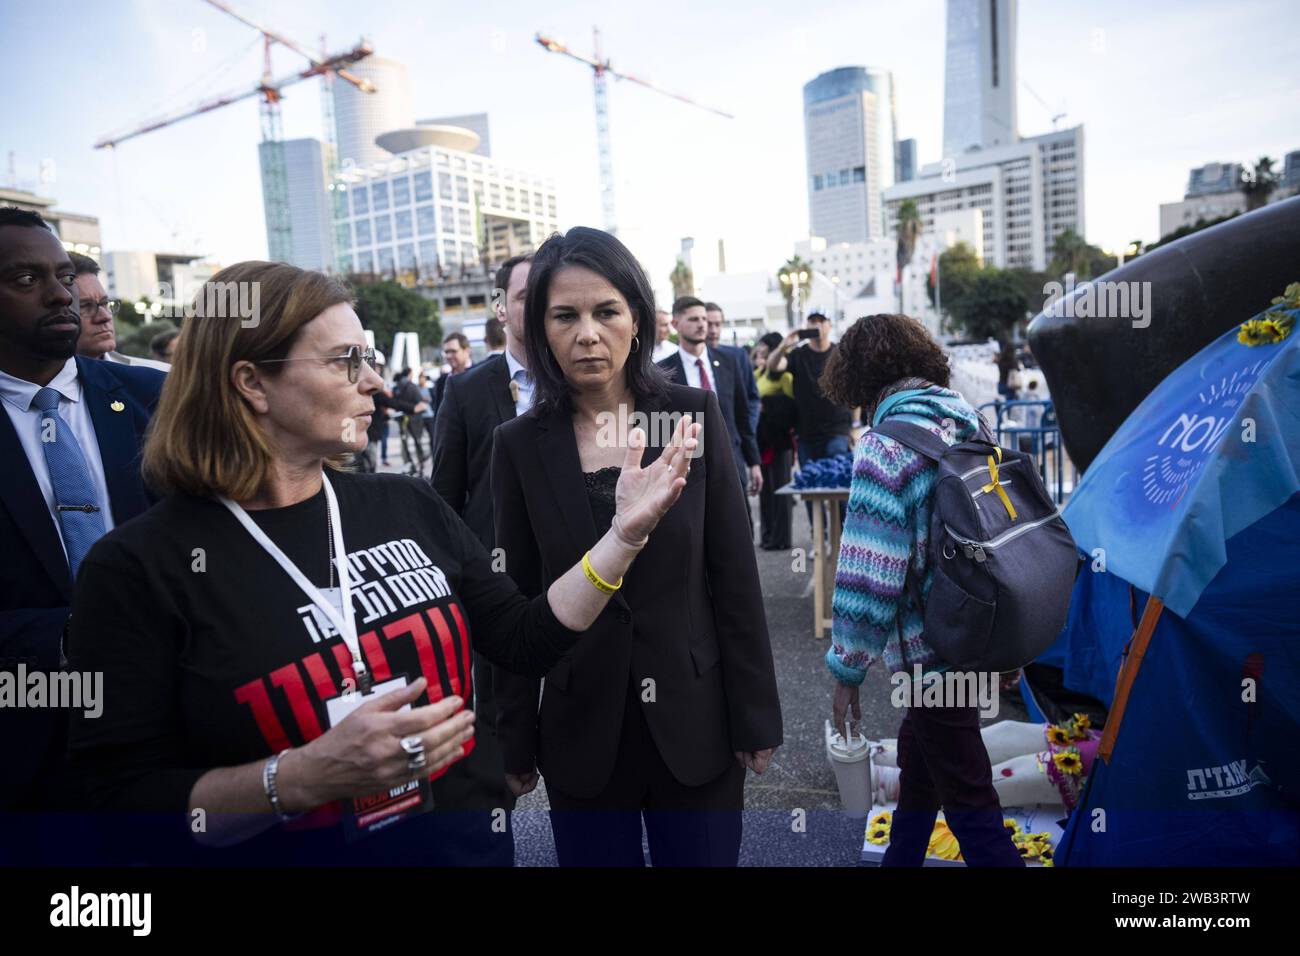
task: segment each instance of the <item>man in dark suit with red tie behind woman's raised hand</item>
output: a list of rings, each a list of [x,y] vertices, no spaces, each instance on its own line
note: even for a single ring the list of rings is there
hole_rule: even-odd
[[[718,393],[718,405],[727,423],[732,455],[740,484],[750,494],[763,488],[762,459],[749,411],[749,385],[753,376],[741,376],[731,355],[710,349],[706,338],[708,319],[705,303],[684,295],[672,303],[672,325],[677,330],[677,351],[659,362],[671,381]],[[753,541],[753,525],[746,540]]]

